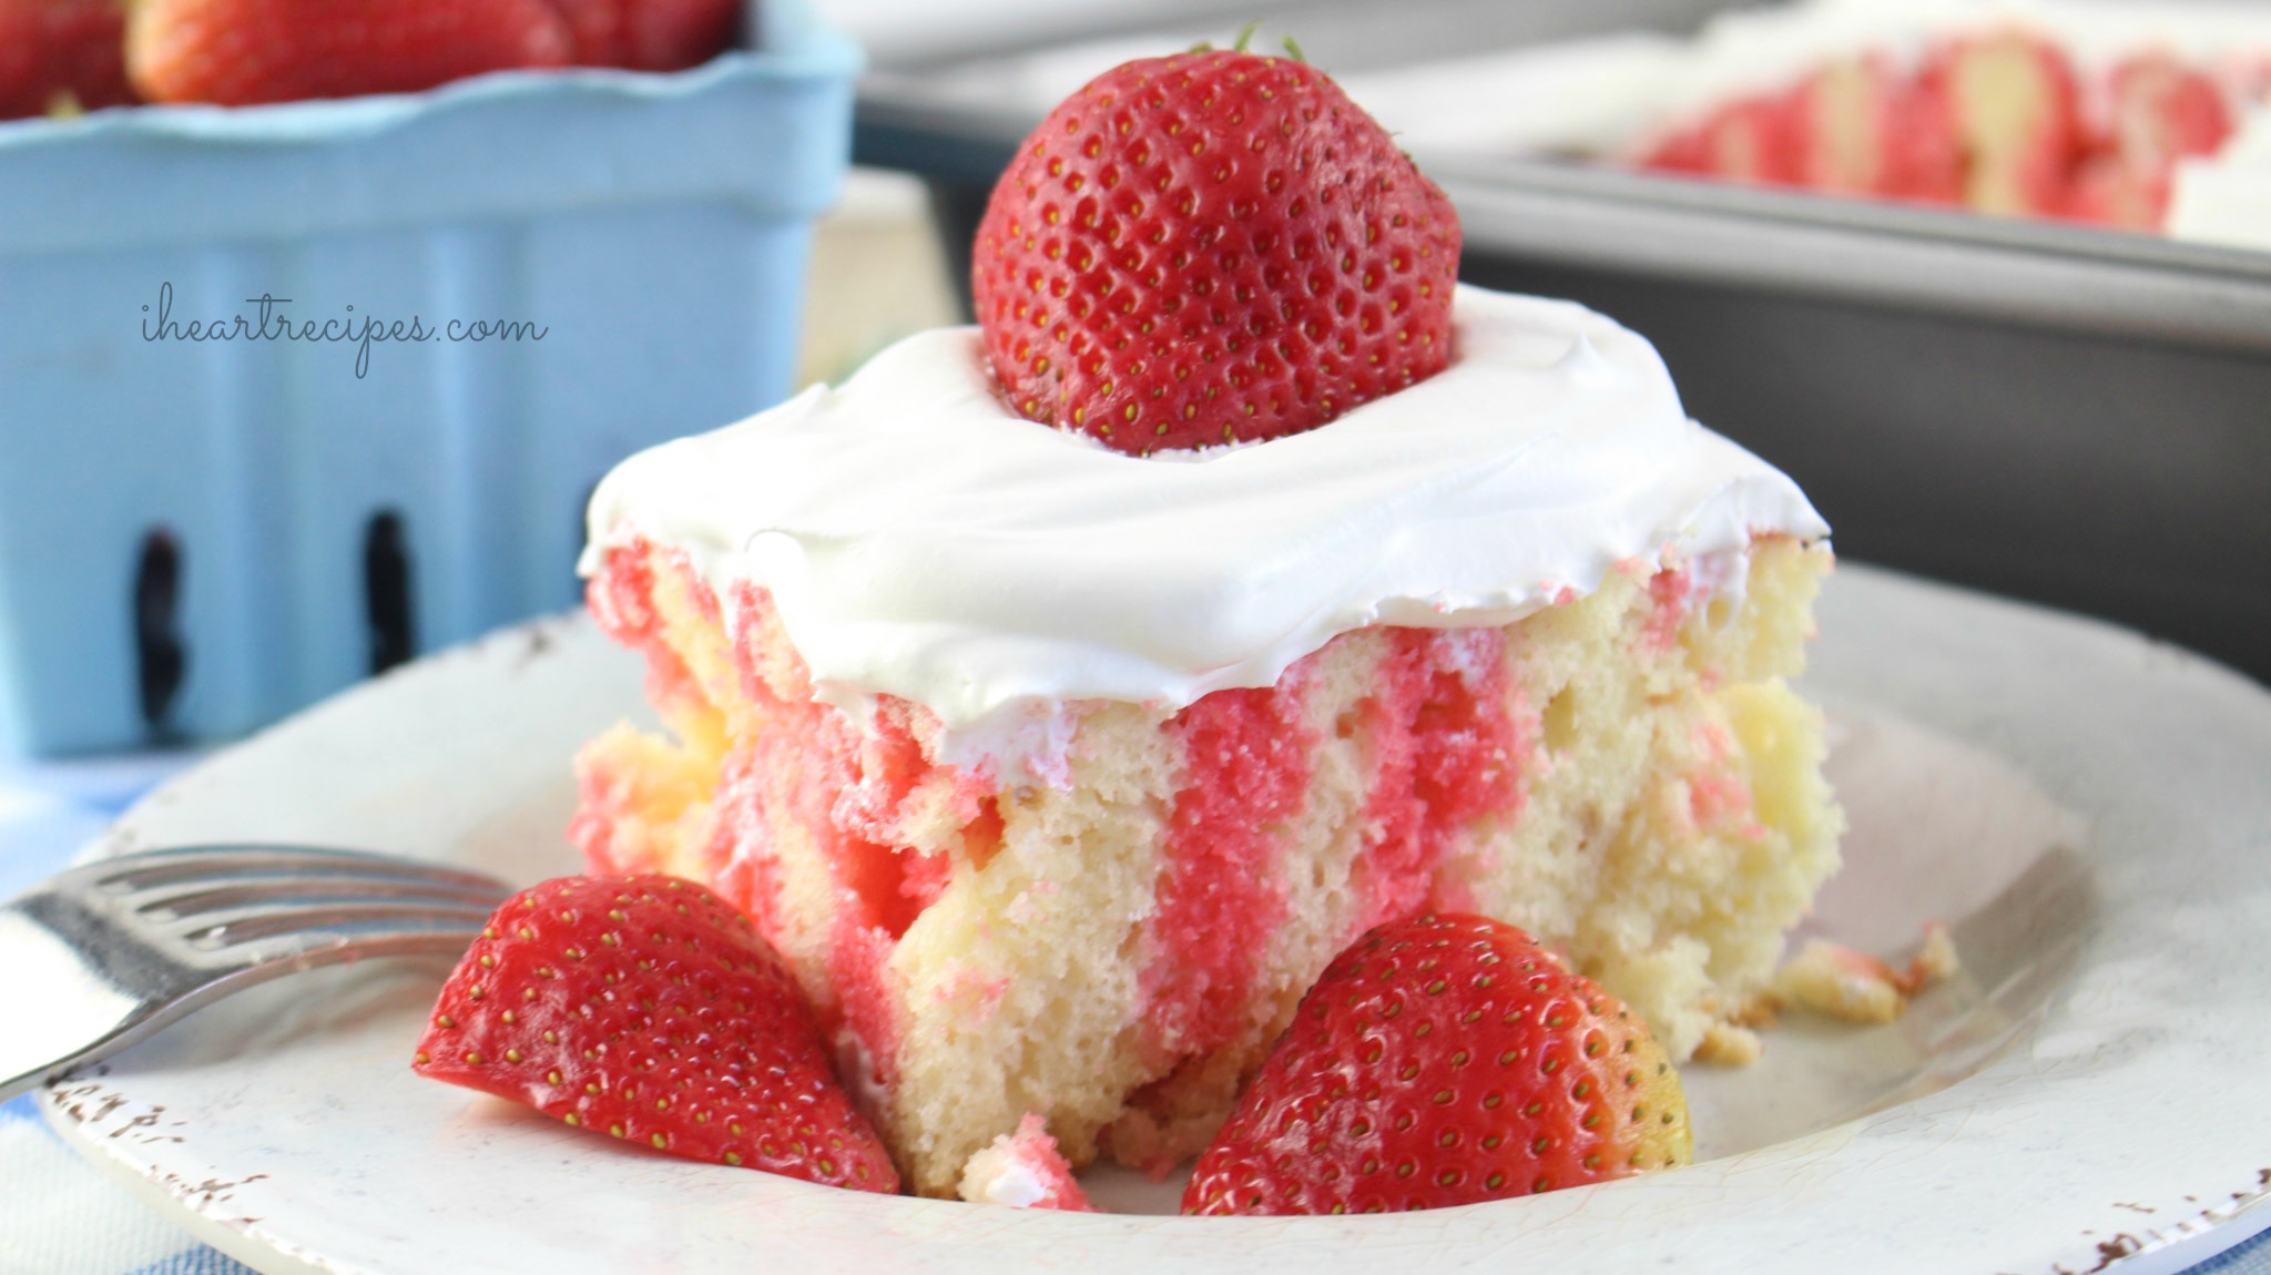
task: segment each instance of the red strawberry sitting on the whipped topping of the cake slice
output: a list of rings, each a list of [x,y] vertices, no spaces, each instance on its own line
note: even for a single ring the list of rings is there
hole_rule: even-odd
[[[1451,361],[1451,202],[1292,59],[1188,52],[1067,98],[972,254],[1008,404],[1126,454],[1315,429]]]

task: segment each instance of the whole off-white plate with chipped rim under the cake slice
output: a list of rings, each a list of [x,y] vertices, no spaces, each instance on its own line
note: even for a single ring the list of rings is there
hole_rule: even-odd
[[[1022,1214],[681,1164],[409,1073],[441,969],[223,1003],[50,1089],[55,1125],[270,1273],[1376,1270],[2148,1275],[2271,1209],[2271,694],[2135,635],[1846,567],[1808,685],[1853,833],[1812,926],[1964,976],[1896,1025],[1785,1023],[1690,1071],[1706,1159],[1394,1218]],[[565,848],[575,744],[638,715],[581,622],[445,653],[136,808],[134,846],[277,839],[513,880]],[[1099,1175],[1111,1200],[1158,1191]]]

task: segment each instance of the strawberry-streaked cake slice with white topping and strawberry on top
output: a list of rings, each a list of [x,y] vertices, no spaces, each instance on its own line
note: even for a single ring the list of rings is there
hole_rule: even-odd
[[[1356,935],[1481,912],[1671,1059],[1837,862],[1799,488],[1656,352],[1458,288],[1315,68],[1133,61],[995,191],[979,329],[634,456],[590,606],[668,733],[586,746],[595,871],[781,951],[908,1182],[1026,1132],[1206,1146]]]

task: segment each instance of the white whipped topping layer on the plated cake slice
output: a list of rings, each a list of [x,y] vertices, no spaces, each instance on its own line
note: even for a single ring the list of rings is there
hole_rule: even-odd
[[[1828,533],[1615,322],[1460,288],[1456,343],[1324,429],[1136,458],[1013,415],[977,329],[929,331],[625,461],[584,569],[634,535],[684,549],[720,597],[772,592],[822,701],[911,699],[947,760],[1049,783],[1065,701],[1172,710],[1367,624],[1506,624],[1619,560]]]

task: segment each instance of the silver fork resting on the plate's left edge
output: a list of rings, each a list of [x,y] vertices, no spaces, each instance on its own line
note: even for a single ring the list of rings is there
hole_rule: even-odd
[[[511,889],[363,851],[184,846],[75,867],[0,905],[0,1103],[241,987],[366,955],[463,953]]]

